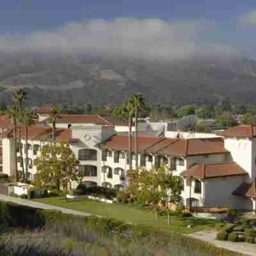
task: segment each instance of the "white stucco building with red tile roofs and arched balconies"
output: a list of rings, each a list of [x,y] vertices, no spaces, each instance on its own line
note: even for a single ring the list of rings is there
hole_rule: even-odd
[[[80,115],[71,116],[68,119],[68,116],[64,115],[62,121],[57,122],[56,140],[66,140],[70,143],[79,159],[83,182],[124,188],[127,185],[126,175],[129,170],[128,136],[118,134],[118,125],[109,124],[109,121],[95,122],[94,115],[87,115],[86,118],[81,118]],[[88,121],[89,117],[92,120]],[[77,118],[79,122],[75,122]],[[31,179],[36,175],[33,161],[40,156],[40,148],[51,139],[51,130],[50,123],[45,120],[40,125],[29,127]],[[182,132],[179,132],[179,136],[177,132],[168,132],[165,135],[138,137],[138,163],[140,168],[148,170],[166,164],[168,172],[182,176],[181,196],[185,205],[189,205],[191,198],[194,206],[256,209],[255,127],[239,125],[218,135]],[[12,129],[0,136],[3,140],[3,172],[15,175]],[[21,142],[24,148],[23,130]],[[19,161],[21,157],[25,159],[24,150],[23,156],[18,157]],[[134,138],[131,161],[135,168]],[[20,170],[19,164],[18,168]]]

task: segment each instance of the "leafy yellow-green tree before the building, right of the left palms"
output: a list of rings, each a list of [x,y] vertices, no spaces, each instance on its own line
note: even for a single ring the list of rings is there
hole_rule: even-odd
[[[81,180],[79,161],[65,142],[52,141],[42,147],[41,156],[35,159],[36,186],[54,184],[58,189],[71,188],[71,182]]]

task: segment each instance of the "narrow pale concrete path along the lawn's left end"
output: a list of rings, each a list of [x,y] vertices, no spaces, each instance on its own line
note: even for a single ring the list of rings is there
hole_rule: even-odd
[[[57,210],[57,211],[61,211],[63,213],[67,213],[67,214],[75,214],[75,215],[81,215],[81,216],[91,215],[90,213],[86,213],[86,212],[74,211],[71,209],[58,207],[55,205],[42,204],[39,202],[33,202],[30,200],[26,200],[26,199],[20,199],[20,198],[16,198],[13,196],[0,195],[0,201],[13,202],[15,204],[26,205],[26,206],[30,206],[33,208],[44,209],[44,210]],[[98,217],[100,217],[100,216],[98,216]]]

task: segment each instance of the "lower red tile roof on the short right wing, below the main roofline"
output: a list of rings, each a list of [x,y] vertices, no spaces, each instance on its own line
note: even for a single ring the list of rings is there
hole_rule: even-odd
[[[198,179],[211,179],[246,174],[248,173],[237,163],[194,164],[191,168],[182,172],[182,175],[184,176],[192,175]]]

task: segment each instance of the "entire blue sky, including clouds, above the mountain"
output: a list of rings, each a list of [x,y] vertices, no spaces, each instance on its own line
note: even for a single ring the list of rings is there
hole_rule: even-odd
[[[17,45],[19,42],[21,47],[51,51],[60,44],[61,51],[95,51],[97,48],[100,52],[115,52],[117,48],[116,52],[122,54],[144,51],[142,55],[146,56],[147,52],[154,51],[157,57],[167,54],[176,58],[179,54],[173,56],[172,52],[179,50],[183,57],[180,47],[188,46],[188,54],[214,49],[214,52],[241,52],[256,58],[255,10],[255,0],[1,0],[0,50],[2,47],[4,51],[13,51],[17,48],[15,42]],[[100,29],[99,22],[95,22],[99,19],[104,21]],[[136,26],[143,33],[141,38]],[[125,35],[126,29],[129,36]],[[92,40],[83,48],[83,40],[91,38],[92,33],[93,40],[104,40],[109,45],[115,40],[115,47],[110,49],[99,44],[93,48]],[[72,44],[74,38],[79,38],[81,44]],[[145,38],[151,42],[147,43]],[[47,41],[47,47],[39,40]],[[127,40],[129,44],[124,45]],[[167,49],[168,44],[173,51]],[[148,50],[141,49],[142,45]]]

